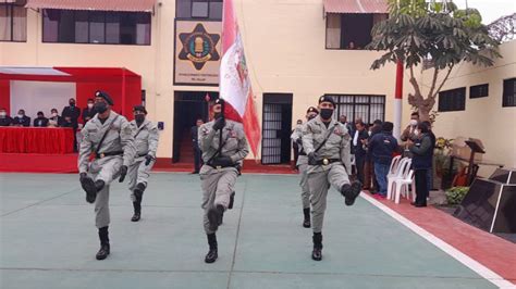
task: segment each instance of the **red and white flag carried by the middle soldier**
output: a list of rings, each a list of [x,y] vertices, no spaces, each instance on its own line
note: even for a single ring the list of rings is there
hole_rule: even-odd
[[[261,129],[250,87],[244,46],[233,10],[233,1],[224,0],[223,3],[220,98],[226,103],[225,117],[244,125],[250,149],[257,158]]]

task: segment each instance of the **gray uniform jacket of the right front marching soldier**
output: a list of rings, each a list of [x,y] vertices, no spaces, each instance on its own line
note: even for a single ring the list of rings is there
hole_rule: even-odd
[[[333,126],[335,126],[335,128],[328,138],[328,141],[317,152],[317,160],[340,159],[344,164],[347,174],[351,175],[351,137],[345,125],[332,120],[327,128],[322,123],[321,117],[318,115],[306,123],[303,128],[303,148],[307,154],[315,152]]]

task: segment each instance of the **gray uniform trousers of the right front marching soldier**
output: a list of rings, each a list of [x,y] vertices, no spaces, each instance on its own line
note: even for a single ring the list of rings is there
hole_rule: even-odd
[[[310,165],[308,166],[307,176],[311,193],[311,226],[314,233],[320,233],[324,221],[330,185],[340,192],[343,185],[349,184],[349,177],[344,165],[340,162],[329,165]]]

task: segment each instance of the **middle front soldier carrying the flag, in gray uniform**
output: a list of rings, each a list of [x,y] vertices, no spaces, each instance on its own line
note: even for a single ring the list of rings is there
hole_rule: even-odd
[[[199,147],[205,164],[199,177],[202,189],[204,227],[208,237],[209,252],[205,262],[213,263],[218,257],[216,231],[220,219],[230,205],[236,177],[243,161],[249,153],[242,124],[225,120],[224,100],[213,105],[214,120],[199,128]]]

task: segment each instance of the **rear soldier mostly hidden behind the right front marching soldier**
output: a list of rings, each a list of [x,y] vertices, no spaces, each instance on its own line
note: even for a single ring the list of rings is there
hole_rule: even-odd
[[[306,120],[311,121],[319,114],[319,111],[310,106],[306,111]],[[306,125],[306,124],[305,124]],[[297,158],[296,166],[299,168],[300,175],[300,183],[299,186],[302,187],[302,202],[303,202],[303,227],[309,228],[310,227],[310,189],[308,188],[307,181],[307,168],[308,168],[308,156],[306,155],[305,150],[303,149],[303,127],[305,125],[296,127],[294,133],[291,135],[292,141],[297,143],[299,148],[299,156]]]

